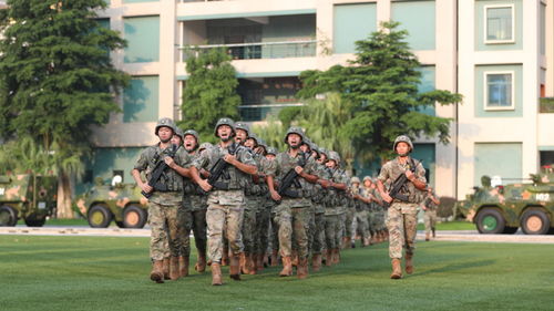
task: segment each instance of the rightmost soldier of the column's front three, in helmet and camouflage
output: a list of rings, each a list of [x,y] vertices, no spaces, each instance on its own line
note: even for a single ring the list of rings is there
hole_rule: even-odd
[[[275,217],[279,226],[279,250],[283,258],[283,270],[279,276],[288,277],[293,274],[291,255],[293,241],[298,247],[297,276],[299,279],[308,277],[308,227],[310,217],[309,194],[305,188],[307,183],[316,183],[318,177],[315,173],[315,160],[305,158],[300,151],[304,133],[298,127],[290,127],[285,136],[285,142],[289,146],[285,153],[279,153],[275,160],[269,162],[265,172],[271,198],[280,201],[275,207]],[[304,165],[304,167],[302,167]],[[277,193],[274,180],[283,183],[286,174],[296,172],[295,185],[287,191]],[[283,195],[283,196],[281,196]]]

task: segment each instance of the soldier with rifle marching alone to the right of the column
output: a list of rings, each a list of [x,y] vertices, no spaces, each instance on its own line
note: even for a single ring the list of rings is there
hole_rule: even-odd
[[[400,266],[402,247],[406,249],[406,272],[413,272],[413,252],[416,250],[416,234],[418,226],[418,205],[421,203],[421,190],[425,190],[425,169],[421,163],[412,159],[409,154],[413,151],[411,139],[401,135],[394,139],[393,149],[398,157],[389,160],[381,168],[377,187],[384,201],[390,204],[387,217],[389,228],[389,256],[392,259],[391,279],[402,278]],[[414,172],[412,172],[414,170]],[[407,201],[392,198],[390,187],[397,178],[406,174],[407,183],[401,188],[401,195]],[[387,186],[388,190],[384,189]]]

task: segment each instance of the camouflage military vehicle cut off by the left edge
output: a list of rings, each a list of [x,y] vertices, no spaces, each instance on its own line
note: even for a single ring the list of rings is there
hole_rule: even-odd
[[[42,227],[55,215],[58,178],[34,174],[0,176],[0,226]]]

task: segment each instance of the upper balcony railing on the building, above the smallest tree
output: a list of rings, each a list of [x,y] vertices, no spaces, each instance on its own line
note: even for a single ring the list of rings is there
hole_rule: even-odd
[[[310,58],[316,55],[317,40],[283,41],[283,42],[256,42],[234,44],[208,44],[198,45],[201,50],[226,48],[233,60],[259,60],[259,59],[286,59],[286,58]],[[188,48],[181,46],[181,50]],[[183,61],[187,53],[183,53]]]

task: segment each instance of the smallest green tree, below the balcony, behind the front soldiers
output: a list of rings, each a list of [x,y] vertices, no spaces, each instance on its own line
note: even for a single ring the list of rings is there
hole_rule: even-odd
[[[236,120],[240,96],[230,55],[225,49],[187,51],[186,80],[181,106],[182,128],[194,128],[203,142],[215,142],[214,126],[223,116]]]

